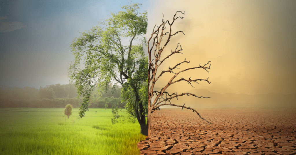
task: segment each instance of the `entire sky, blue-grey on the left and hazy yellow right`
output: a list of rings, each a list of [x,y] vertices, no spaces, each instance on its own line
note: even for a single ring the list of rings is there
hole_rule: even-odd
[[[147,10],[146,37],[155,24],[185,11],[167,51],[180,43],[183,55],[171,57],[164,68],[186,60],[198,66],[211,61],[210,73],[192,71],[183,77],[207,78],[198,89],[225,93],[296,92],[296,1],[132,1]],[[73,61],[70,44],[105,19],[123,11],[129,1],[4,1],[0,25],[0,85],[45,87],[68,84]],[[2,4],[1,4],[2,5]],[[170,77],[172,75],[169,75]],[[170,78],[168,76],[168,78]],[[160,79],[159,87],[166,82]],[[186,91],[189,86],[172,85]]]

